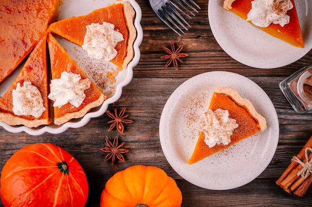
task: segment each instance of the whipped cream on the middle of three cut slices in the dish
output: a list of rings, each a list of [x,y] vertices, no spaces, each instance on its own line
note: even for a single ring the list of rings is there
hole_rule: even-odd
[[[51,80],[48,98],[54,101],[54,107],[60,108],[67,103],[79,107],[86,97],[84,90],[90,85],[89,78],[81,79],[80,74],[65,71],[61,78]]]

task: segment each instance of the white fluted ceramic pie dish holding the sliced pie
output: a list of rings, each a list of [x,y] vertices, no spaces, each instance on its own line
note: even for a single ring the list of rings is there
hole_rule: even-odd
[[[121,1],[122,0],[91,0],[91,1],[90,0],[79,0],[79,1],[63,0],[62,5],[59,7],[59,15],[58,15],[57,20],[61,20],[64,18],[72,17],[72,16],[86,15],[97,8],[105,7],[105,6],[111,5],[113,3],[118,3]],[[142,18],[142,11],[141,11],[139,4],[135,0],[129,0],[129,1],[131,5],[134,7],[135,12],[136,12],[134,25],[137,30],[137,39],[134,43],[135,56],[133,60],[129,63],[127,68],[122,69],[122,71],[119,72],[119,74],[116,77],[116,83],[110,84],[111,87],[107,87],[107,88],[105,87],[104,84],[108,84],[109,79],[105,80],[106,83],[102,82],[102,80],[100,83],[99,82],[100,80],[97,79],[97,75],[94,76],[92,74],[88,74],[88,71],[86,71],[89,77],[96,84],[98,83],[98,86],[102,88],[105,95],[108,96],[108,99],[105,100],[105,102],[100,107],[97,107],[91,110],[81,119],[75,119],[60,126],[51,124],[49,126],[43,126],[43,127],[38,127],[34,129],[34,128],[27,128],[24,126],[9,126],[3,122],[0,122],[0,126],[3,127],[5,130],[7,130],[8,132],[12,132],[12,133],[26,132],[30,135],[41,135],[47,132],[51,134],[59,134],[59,133],[65,132],[68,128],[83,127],[90,121],[91,118],[99,117],[103,115],[105,111],[107,110],[108,105],[116,102],[120,98],[123,87],[129,84],[130,81],[132,80],[133,68],[139,63],[139,60],[140,60],[139,46],[143,39],[143,30],[140,24],[141,18]],[[114,66],[110,62],[105,62],[105,61],[96,62],[96,61],[91,60],[90,58],[87,57],[85,51],[83,51],[77,45],[74,45],[61,38],[57,38],[57,40],[67,50],[69,55],[79,64],[79,66],[82,69],[94,68],[94,69],[97,69],[98,71],[102,69],[103,70],[102,72],[105,74],[105,72],[107,72],[106,71],[107,68],[113,68],[113,69],[116,68],[116,66]],[[5,93],[5,91],[8,89],[8,87],[10,86],[14,78],[17,76],[20,69],[16,70],[16,72],[13,75],[11,75],[3,83],[1,83],[0,96],[2,96]]]

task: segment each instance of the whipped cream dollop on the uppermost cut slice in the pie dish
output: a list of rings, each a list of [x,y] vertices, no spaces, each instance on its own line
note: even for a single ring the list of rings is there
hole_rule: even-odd
[[[118,42],[123,41],[123,35],[114,30],[115,25],[103,22],[91,23],[86,26],[87,33],[84,37],[82,48],[93,59],[110,61],[117,56],[115,49]]]

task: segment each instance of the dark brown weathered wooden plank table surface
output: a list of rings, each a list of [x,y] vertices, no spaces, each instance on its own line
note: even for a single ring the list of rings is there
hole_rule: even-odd
[[[109,105],[109,110],[127,108],[126,113],[134,123],[126,125],[125,132],[108,132],[111,120],[106,114],[93,118],[84,127],[68,129],[58,135],[30,136],[26,133],[8,133],[0,128],[0,170],[6,160],[21,147],[37,142],[52,142],[69,151],[84,168],[89,182],[89,197],[86,207],[99,207],[100,195],[107,180],[125,168],[143,164],[162,168],[180,188],[182,207],[224,206],[311,206],[312,188],[304,198],[294,198],[275,184],[312,135],[311,114],[296,113],[282,94],[279,83],[293,72],[312,65],[310,51],[299,61],[277,69],[256,69],[245,66],[228,56],[216,42],[208,21],[207,0],[196,0],[201,9],[188,20],[191,27],[178,36],[165,26],[153,12],[148,0],[137,0],[142,9],[143,42],[141,59],[134,68],[133,79],[124,87],[121,98]],[[165,60],[161,46],[184,45],[189,56],[183,58],[178,70],[172,66],[164,69]],[[206,190],[181,178],[167,162],[159,142],[159,119],[164,104],[171,93],[185,80],[208,71],[231,71],[256,82],[268,94],[278,114],[280,137],[276,153],[269,166],[252,182],[232,190]],[[99,149],[105,146],[105,138],[125,141],[126,162],[112,165],[105,162],[106,153]],[[0,203],[0,207],[2,204]]]

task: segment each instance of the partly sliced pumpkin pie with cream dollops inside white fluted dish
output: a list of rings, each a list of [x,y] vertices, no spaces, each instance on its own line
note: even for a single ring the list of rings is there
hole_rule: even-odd
[[[3,49],[0,57],[5,59],[0,63],[0,82],[35,47],[14,82],[0,98],[0,121],[29,128],[48,125],[52,122],[50,100],[53,101],[54,124],[60,125],[71,119],[81,118],[89,110],[100,106],[106,96],[51,33],[82,46],[90,58],[111,61],[120,68],[126,68],[134,57],[133,44],[137,35],[133,24],[135,11],[129,1],[124,1],[94,10],[85,16],[54,22],[47,29],[55,17],[59,1],[40,1],[42,8],[36,5],[37,1],[28,1],[27,5],[18,2],[15,5],[11,0],[0,3],[11,9],[12,13],[21,14],[9,18],[10,12],[3,10],[0,22],[8,30],[0,34],[0,48]],[[34,8],[39,13],[44,13],[43,16],[35,16],[36,12],[32,12]],[[31,22],[31,28],[24,25],[25,19]],[[16,32],[12,32],[13,30]],[[9,41],[2,41],[2,44],[2,38],[21,41],[26,50],[21,50],[18,42],[14,43],[14,47],[10,46]],[[50,87],[46,43],[52,76]],[[23,54],[17,54],[19,52]],[[16,60],[11,60],[12,57],[16,57]]]

